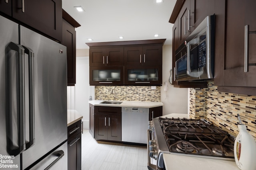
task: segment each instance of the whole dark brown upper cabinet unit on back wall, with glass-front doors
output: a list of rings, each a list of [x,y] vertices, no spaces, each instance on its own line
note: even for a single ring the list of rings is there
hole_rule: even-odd
[[[90,47],[90,85],[160,86],[164,41],[86,43]]]

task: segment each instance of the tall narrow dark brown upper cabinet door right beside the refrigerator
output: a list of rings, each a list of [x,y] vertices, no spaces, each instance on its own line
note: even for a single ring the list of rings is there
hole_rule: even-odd
[[[76,31],[66,20],[62,22],[62,44],[67,47],[68,85],[76,84]]]

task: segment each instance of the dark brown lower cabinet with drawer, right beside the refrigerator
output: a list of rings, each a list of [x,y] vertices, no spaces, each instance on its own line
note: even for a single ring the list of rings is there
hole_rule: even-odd
[[[81,170],[81,122],[68,126],[68,170]]]

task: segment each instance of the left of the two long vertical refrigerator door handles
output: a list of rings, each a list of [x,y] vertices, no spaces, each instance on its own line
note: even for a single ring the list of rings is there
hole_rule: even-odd
[[[17,64],[16,70],[12,71],[12,56],[9,55],[10,51],[16,51],[18,53],[17,57],[16,57],[16,61],[15,63]],[[18,45],[16,43],[10,42],[7,46],[6,46],[6,139],[7,139],[7,152],[10,155],[16,156],[20,153],[22,153],[25,149],[26,149],[26,145],[25,145],[25,129],[24,129],[24,125],[25,125],[25,118],[24,118],[24,112],[25,112],[25,88],[24,88],[24,48],[21,45]],[[14,90],[12,89],[13,85],[12,85],[12,72],[16,72],[16,77],[14,76],[14,78],[16,78],[16,84],[14,86],[16,89],[16,104],[17,104],[17,110],[16,110],[16,116],[17,117],[17,143],[14,141],[15,139],[15,134],[14,131],[15,129],[13,129],[13,127],[15,125],[13,122],[13,119],[15,119],[13,117],[13,113],[12,113],[12,103],[14,101],[12,98],[12,93],[14,92]],[[14,103],[15,104],[15,103]]]

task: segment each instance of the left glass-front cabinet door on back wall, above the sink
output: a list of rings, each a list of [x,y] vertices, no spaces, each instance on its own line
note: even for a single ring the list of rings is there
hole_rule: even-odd
[[[120,85],[124,83],[123,67],[90,68],[90,85]]]

